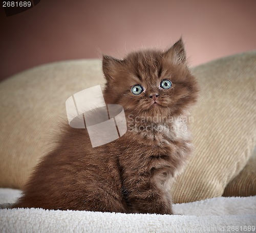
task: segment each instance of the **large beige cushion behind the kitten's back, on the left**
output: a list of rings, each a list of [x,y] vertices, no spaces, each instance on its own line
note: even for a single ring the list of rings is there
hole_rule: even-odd
[[[0,83],[0,187],[22,188],[38,159],[53,146],[66,100],[102,83],[99,60],[38,66]]]

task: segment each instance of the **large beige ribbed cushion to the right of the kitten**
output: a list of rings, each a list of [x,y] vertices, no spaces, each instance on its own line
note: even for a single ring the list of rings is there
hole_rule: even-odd
[[[196,153],[174,185],[174,201],[221,196],[256,144],[256,52],[194,69],[201,88],[194,109]]]

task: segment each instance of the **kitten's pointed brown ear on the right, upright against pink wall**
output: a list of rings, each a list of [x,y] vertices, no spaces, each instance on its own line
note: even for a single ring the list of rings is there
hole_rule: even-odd
[[[182,38],[180,38],[169,50],[164,52],[163,56],[166,59],[175,59],[179,63],[186,62],[186,52],[184,49],[184,43]]]

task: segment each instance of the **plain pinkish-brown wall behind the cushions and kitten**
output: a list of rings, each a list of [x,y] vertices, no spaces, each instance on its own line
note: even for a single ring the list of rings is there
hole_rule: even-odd
[[[53,61],[122,58],[181,36],[190,65],[256,49],[255,0],[41,0],[0,17],[0,80]]]

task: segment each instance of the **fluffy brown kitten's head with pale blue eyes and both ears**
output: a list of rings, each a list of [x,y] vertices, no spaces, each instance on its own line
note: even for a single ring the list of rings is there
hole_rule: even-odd
[[[123,60],[103,56],[104,98],[136,117],[175,117],[196,102],[198,85],[182,39],[165,52],[141,51]],[[159,118],[160,119],[160,118]]]

